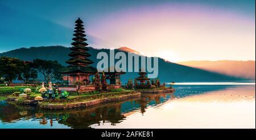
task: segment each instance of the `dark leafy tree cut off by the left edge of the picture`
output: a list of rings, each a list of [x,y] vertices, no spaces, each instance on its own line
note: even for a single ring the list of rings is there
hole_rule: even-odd
[[[0,75],[10,84],[23,72],[24,62],[18,58],[3,56],[0,58]]]

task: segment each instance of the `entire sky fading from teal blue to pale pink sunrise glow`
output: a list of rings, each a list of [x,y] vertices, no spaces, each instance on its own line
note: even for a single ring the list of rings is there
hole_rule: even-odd
[[[94,48],[127,46],[171,62],[255,60],[255,0],[0,0],[0,53],[71,46],[75,20]]]

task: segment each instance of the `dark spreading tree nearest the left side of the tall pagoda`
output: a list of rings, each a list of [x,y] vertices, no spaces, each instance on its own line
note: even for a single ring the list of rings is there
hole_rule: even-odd
[[[44,79],[47,81],[47,83],[53,79],[61,79],[61,74],[59,73],[59,70],[63,69],[64,66],[62,66],[57,61],[36,59],[33,62],[35,68],[44,75]]]

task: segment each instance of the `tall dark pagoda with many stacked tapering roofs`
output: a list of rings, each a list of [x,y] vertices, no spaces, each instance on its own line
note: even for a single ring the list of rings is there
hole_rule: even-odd
[[[97,69],[90,66],[93,61],[88,59],[90,54],[86,52],[89,49],[86,47],[88,44],[85,43],[87,39],[85,39],[83,22],[79,18],[75,23],[75,33],[73,34],[75,37],[72,39],[74,42],[71,43],[73,46],[70,48],[72,52],[68,54],[71,58],[66,61],[69,66],[61,70],[61,73],[63,74],[63,79],[68,81],[68,84],[78,81],[89,84],[90,75],[97,73]]]

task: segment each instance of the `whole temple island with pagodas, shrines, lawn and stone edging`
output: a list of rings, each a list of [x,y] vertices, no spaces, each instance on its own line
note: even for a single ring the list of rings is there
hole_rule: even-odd
[[[125,72],[115,67],[98,71],[96,67],[91,66],[94,62],[89,59],[91,55],[88,53],[88,44],[85,42],[87,39],[85,39],[83,22],[79,18],[75,23],[71,53],[68,54],[71,58],[66,61],[68,66],[58,71],[63,78],[63,83],[49,81],[32,84],[32,86],[26,84],[9,95],[8,101],[37,105],[41,109],[67,109],[138,98],[142,93],[174,92],[172,86],[166,87],[164,83],[160,84],[159,79],[148,78],[145,69],[140,69],[139,77],[135,78],[134,82],[129,79],[126,85],[122,85],[121,82],[121,75]]]

